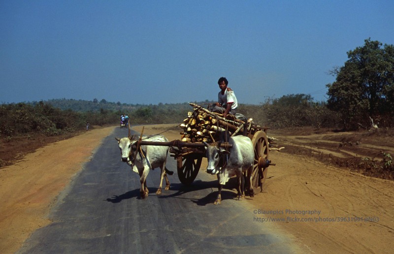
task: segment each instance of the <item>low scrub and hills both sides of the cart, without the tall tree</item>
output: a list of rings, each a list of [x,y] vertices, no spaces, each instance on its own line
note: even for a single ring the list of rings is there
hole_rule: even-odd
[[[56,102],[56,103],[54,103]],[[213,101],[202,101],[196,104],[207,104]],[[89,122],[94,125],[118,125],[120,117],[128,114],[131,125],[182,123],[188,111],[193,111],[189,103],[158,105],[121,105],[106,102],[95,110],[84,105],[91,101],[58,99],[33,103],[11,103],[0,105],[0,136],[39,132],[47,136],[55,136],[74,132],[86,127]],[[55,105],[66,107],[61,109]],[[119,106],[119,105],[118,105]],[[73,110],[73,109],[74,110]],[[75,110],[77,108],[78,110]],[[325,104],[312,101],[310,95],[286,95],[278,99],[270,99],[261,105],[241,104],[239,112],[253,118],[260,125],[282,127],[335,127],[332,121],[335,113],[329,111]]]

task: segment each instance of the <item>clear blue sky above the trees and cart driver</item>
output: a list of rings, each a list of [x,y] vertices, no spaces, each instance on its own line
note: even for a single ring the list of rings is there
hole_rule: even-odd
[[[310,94],[364,40],[394,44],[393,0],[0,0],[0,103],[239,103]]]

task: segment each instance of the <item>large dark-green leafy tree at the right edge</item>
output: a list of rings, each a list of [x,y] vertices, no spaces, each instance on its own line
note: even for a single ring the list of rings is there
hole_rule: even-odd
[[[330,71],[336,80],[326,85],[328,108],[341,112],[345,129],[354,129],[357,123],[369,126],[369,117],[393,114],[394,46],[370,38],[364,42],[347,52],[344,66]]]

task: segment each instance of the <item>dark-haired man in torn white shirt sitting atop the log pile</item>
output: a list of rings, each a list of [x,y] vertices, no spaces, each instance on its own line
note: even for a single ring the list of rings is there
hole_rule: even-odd
[[[218,94],[218,102],[211,110],[212,112],[221,113],[226,118],[228,114],[235,115],[238,107],[237,98],[234,91],[227,87],[229,81],[225,77],[221,77],[218,81],[220,92]]]

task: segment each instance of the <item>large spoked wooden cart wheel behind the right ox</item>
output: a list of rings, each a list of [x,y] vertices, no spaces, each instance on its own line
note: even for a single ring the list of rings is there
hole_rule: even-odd
[[[268,167],[263,167],[265,159],[268,159],[268,139],[264,131],[257,131],[252,138],[255,149],[255,160],[253,162],[252,185],[255,194],[263,192]]]

